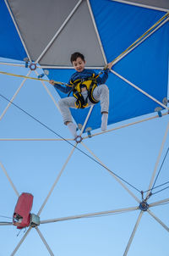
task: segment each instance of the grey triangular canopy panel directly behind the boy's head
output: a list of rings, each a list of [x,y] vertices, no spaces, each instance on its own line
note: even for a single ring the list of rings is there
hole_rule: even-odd
[[[68,66],[74,52],[85,54],[88,66],[105,65],[86,1],[80,4],[40,63]]]

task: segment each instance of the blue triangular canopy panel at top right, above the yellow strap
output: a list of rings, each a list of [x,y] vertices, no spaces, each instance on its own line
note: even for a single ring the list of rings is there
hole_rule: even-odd
[[[90,0],[108,62],[119,56],[166,13],[112,0]]]

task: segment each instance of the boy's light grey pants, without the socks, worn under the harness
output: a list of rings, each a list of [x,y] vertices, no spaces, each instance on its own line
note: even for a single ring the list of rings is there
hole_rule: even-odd
[[[88,96],[88,92],[82,92],[82,95],[84,98]],[[101,113],[102,112],[108,112],[109,109],[109,89],[106,85],[100,85],[95,88],[93,91],[93,97],[96,101],[100,101],[101,103]],[[66,124],[66,122],[72,122],[72,115],[69,108],[76,109],[74,106],[74,103],[76,102],[75,97],[63,97],[59,100],[58,106],[61,111],[61,114],[63,115],[63,122]],[[91,103],[88,98],[88,107],[91,105],[95,105],[94,103]]]

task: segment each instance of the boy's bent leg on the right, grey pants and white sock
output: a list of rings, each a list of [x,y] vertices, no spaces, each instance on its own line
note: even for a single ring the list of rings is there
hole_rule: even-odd
[[[97,86],[93,92],[95,100],[101,102],[101,131],[106,131],[109,109],[109,89],[106,85]]]

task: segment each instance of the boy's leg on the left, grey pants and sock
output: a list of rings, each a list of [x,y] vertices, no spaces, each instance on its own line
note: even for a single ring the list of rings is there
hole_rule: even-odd
[[[77,127],[73,123],[72,114],[69,108],[75,109],[75,106],[74,106],[75,101],[76,101],[75,97],[64,97],[64,98],[61,98],[58,102],[59,109],[63,116],[63,122],[65,125],[68,125],[68,129],[74,138],[77,136],[77,133],[76,133]]]

